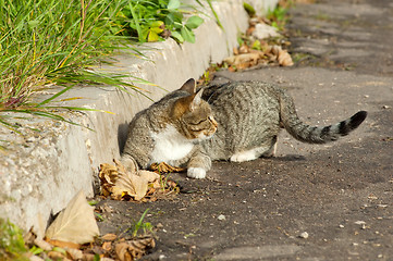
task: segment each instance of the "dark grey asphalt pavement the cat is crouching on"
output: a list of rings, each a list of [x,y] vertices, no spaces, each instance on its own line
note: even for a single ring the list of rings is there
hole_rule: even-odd
[[[160,224],[144,260],[393,260],[393,2],[318,1],[291,10],[292,67],[217,73],[214,80],[275,83],[300,119],[328,125],[368,117],[329,145],[284,130],[273,159],[216,162],[206,179],[173,174],[173,200],[105,200],[101,234],[149,208]]]

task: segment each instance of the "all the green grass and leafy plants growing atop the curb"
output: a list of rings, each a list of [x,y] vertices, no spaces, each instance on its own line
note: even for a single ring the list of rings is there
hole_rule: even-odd
[[[91,69],[125,46],[140,57],[139,42],[195,41],[193,30],[204,21],[180,0],[0,0],[0,125],[17,132],[15,113],[66,121],[53,110],[83,109],[49,104],[75,85],[143,92],[125,75]],[[63,90],[35,103],[52,85]]]

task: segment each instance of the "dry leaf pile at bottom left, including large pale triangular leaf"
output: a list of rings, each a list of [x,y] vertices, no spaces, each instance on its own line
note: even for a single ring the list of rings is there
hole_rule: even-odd
[[[147,211],[130,236],[114,234],[99,236],[94,207],[89,206],[83,191],[79,191],[47,228],[44,239],[32,231],[25,236],[25,244],[29,249],[25,257],[30,261],[139,259],[156,246],[155,228],[150,223],[147,223],[148,232],[144,228],[144,234],[138,236],[138,228],[143,226],[146,213]]]

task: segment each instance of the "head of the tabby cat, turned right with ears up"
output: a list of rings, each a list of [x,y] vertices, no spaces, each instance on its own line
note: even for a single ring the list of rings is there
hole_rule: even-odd
[[[217,130],[217,122],[208,102],[201,99],[202,89],[196,92],[193,78],[181,88],[188,95],[177,99],[172,108],[171,117],[176,123],[177,130],[187,139],[204,140],[210,138]]]

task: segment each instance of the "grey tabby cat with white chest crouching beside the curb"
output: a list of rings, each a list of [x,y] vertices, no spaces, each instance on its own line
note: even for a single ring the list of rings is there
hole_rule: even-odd
[[[367,112],[317,127],[303,123],[284,89],[263,82],[231,82],[196,91],[194,79],[137,113],[128,126],[122,162],[142,169],[165,162],[204,178],[211,161],[273,157],[285,128],[308,144],[326,144],[357,128]]]

